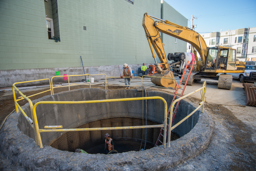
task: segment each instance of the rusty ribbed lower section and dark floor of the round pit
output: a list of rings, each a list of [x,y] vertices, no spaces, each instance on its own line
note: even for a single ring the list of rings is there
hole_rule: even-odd
[[[147,125],[158,125],[151,120],[147,120]],[[118,117],[109,119],[100,119],[81,125],[76,128],[96,128],[96,127],[124,127],[124,126],[141,126],[140,118]],[[62,150],[74,152],[76,148],[85,150],[89,154],[105,154],[104,151],[104,134],[109,133],[114,141],[114,149],[118,153],[128,151],[139,151],[140,149],[150,149],[155,146],[161,128],[147,128],[147,129],[119,129],[119,130],[102,130],[102,131],[79,131],[66,132],[61,135],[56,141],[49,144],[50,146]],[[146,134],[147,131],[147,134]],[[147,137],[146,137],[147,136]],[[146,148],[145,146],[146,140]],[[171,140],[179,138],[175,133],[171,133]],[[163,138],[160,138],[163,142]],[[160,145],[160,143],[159,143]]]

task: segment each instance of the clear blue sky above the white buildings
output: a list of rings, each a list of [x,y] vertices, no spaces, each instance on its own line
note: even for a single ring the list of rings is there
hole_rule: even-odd
[[[256,0],[165,1],[189,20],[194,15],[193,25],[199,33],[256,27]],[[191,21],[187,26],[190,28]]]

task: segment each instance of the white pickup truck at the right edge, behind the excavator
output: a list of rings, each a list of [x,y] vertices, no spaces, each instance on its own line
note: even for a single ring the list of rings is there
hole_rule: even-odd
[[[227,73],[232,75],[233,78],[240,79],[240,82],[251,81],[256,82],[256,66],[245,65],[244,73]]]

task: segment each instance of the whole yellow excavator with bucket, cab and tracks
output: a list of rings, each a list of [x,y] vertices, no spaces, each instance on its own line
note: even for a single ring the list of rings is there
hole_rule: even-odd
[[[157,21],[152,18],[157,19]],[[157,78],[151,77],[151,82],[158,86],[175,87],[176,85],[172,80],[174,79],[173,68],[175,72],[175,68],[179,68],[177,65],[184,67],[185,61],[190,60],[185,53],[174,53],[166,56],[163,48],[164,44],[161,40],[162,33],[188,42],[193,46],[193,56],[196,60],[196,65],[193,68],[193,73],[191,73],[187,85],[192,85],[201,79],[211,79],[218,80],[218,88],[231,89],[232,75],[227,73],[244,73],[245,62],[236,60],[236,49],[225,46],[207,47],[202,36],[196,31],[168,20],[148,15],[147,13],[143,16],[142,26],[158,70],[157,73],[153,74]],[[156,62],[153,48],[160,59],[160,63]],[[200,58],[198,58],[197,52]],[[173,62],[168,63],[167,59]],[[163,69],[160,65],[163,66]],[[181,70],[182,68],[179,69],[179,72],[182,72]],[[219,73],[221,74],[218,76]],[[186,79],[184,79],[185,81]]]

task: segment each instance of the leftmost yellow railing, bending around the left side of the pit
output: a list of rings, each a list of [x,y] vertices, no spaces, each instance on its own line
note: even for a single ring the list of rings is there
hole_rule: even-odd
[[[31,95],[31,96],[28,96],[26,97],[22,92],[20,92],[20,90],[15,86],[16,84],[22,84],[22,83],[30,83],[30,82],[36,82],[36,81],[43,81],[43,80],[49,80],[49,83],[50,83],[50,89],[49,90],[46,90],[46,91],[42,91],[42,92],[39,92],[37,94],[34,94],[34,95]],[[16,95],[15,95],[15,90],[17,90],[17,92],[21,95],[21,98],[20,99],[16,99]],[[19,110],[22,112],[22,114],[25,116],[25,118],[27,119],[28,123],[30,124],[30,126],[32,128],[34,128],[33,126],[33,123],[34,123],[34,117],[33,117],[33,103],[32,101],[29,99],[29,97],[32,97],[32,96],[35,96],[35,95],[39,95],[39,94],[42,94],[44,92],[47,92],[47,91],[51,91],[51,95],[52,95],[52,86],[51,86],[51,81],[50,79],[41,79],[41,80],[33,80],[33,81],[23,81],[23,82],[17,82],[17,83],[14,83],[12,85],[12,92],[13,92],[13,98],[14,98],[14,104],[15,104],[15,109],[16,109],[16,112],[18,113]],[[31,117],[32,117],[32,120],[26,115],[26,113],[23,111],[23,109],[20,107],[20,105],[18,104],[17,101],[19,100],[23,100],[23,99],[26,99],[29,103],[29,107],[30,107],[30,110],[31,110]],[[34,129],[35,131],[35,129]],[[34,132],[36,133],[36,132]]]

